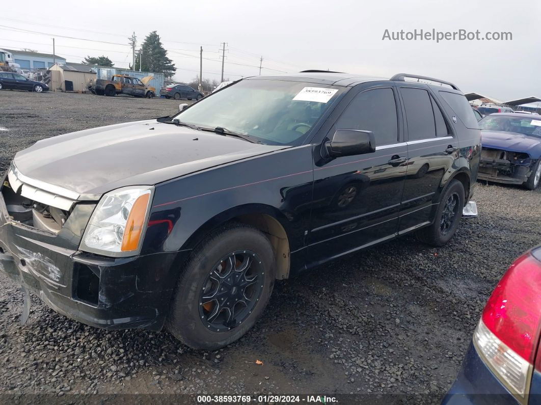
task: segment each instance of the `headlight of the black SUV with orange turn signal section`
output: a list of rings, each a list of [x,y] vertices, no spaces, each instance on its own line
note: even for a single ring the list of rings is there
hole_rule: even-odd
[[[106,256],[133,256],[141,242],[154,187],[124,187],[105,194],[90,217],[80,249]]]

